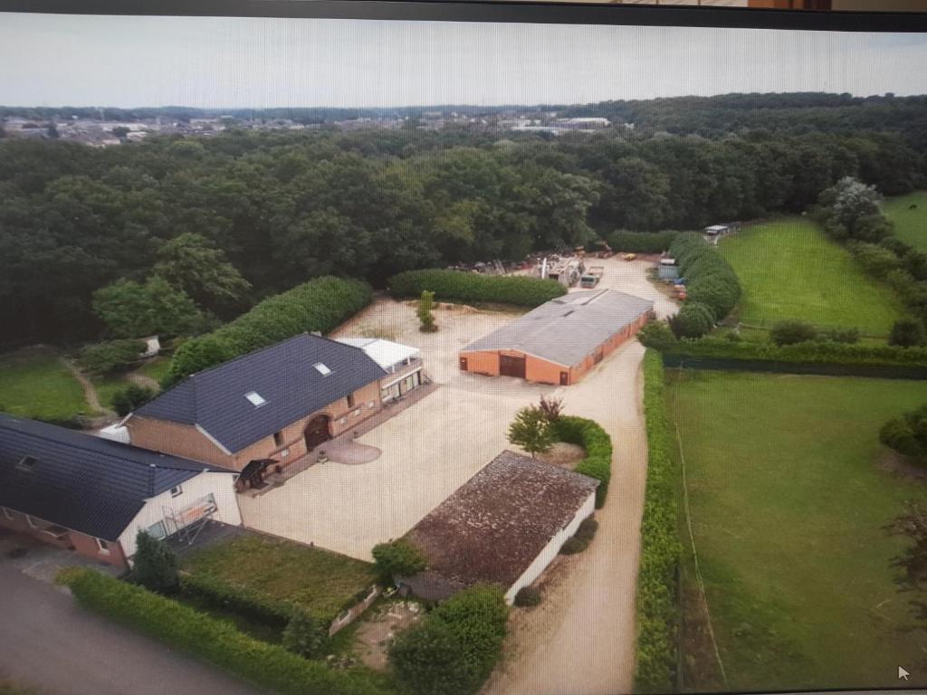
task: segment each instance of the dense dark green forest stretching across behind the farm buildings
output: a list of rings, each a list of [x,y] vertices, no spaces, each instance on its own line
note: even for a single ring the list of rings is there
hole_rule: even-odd
[[[725,95],[574,110],[640,127],[559,137],[232,129],[102,149],[0,139],[2,342],[112,337],[101,308],[120,297],[146,306],[146,292],[163,303],[163,283],[174,313],[193,302],[206,330],[317,275],[377,286],[395,272],[521,259],[616,229],[799,212],[844,176],[885,195],[927,185],[927,97]],[[208,267],[221,272],[204,281]]]

